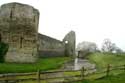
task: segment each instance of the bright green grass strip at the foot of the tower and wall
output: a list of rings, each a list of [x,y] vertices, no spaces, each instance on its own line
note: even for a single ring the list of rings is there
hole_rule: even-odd
[[[0,73],[36,72],[60,68],[69,57],[53,57],[39,59],[34,64],[0,63]]]

